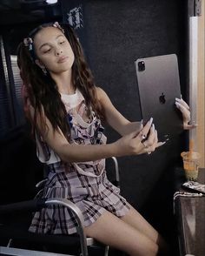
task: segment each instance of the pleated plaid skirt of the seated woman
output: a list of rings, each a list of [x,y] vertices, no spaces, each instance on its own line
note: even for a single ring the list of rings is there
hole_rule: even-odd
[[[94,223],[106,210],[117,217],[129,212],[126,199],[120,195],[119,188],[109,182],[105,170],[99,176],[90,177],[76,172],[75,165],[69,164],[66,168],[62,163],[58,165],[53,168],[55,172],[49,174],[43,197],[72,201],[83,213],[85,226]],[[71,234],[77,232],[76,226],[76,220],[67,207],[48,205],[40,212],[35,212],[29,230]]]

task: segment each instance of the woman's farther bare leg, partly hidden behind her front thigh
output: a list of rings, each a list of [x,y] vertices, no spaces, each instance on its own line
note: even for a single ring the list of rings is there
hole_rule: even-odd
[[[149,237],[149,239],[154,241],[162,250],[165,252],[168,251],[169,246],[164,239],[162,239],[161,235],[155,230],[155,228],[151,226],[149,222],[144,219],[132,205],[129,205],[129,207],[129,212],[121,219],[130,226],[136,228],[139,232],[142,232],[144,235]]]

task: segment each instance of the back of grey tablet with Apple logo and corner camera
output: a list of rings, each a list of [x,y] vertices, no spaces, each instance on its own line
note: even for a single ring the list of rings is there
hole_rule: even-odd
[[[171,138],[182,132],[182,114],[175,107],[181,98],[178,62],[175,54],[136,60],[142,118],[154,118],[158,138]]]

